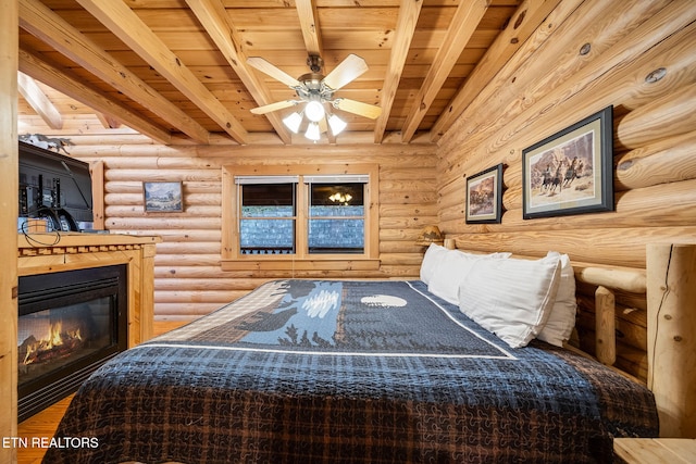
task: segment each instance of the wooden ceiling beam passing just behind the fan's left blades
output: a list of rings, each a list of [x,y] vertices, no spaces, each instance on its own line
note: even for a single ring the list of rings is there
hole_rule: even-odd
[[[259,106],[270,104],[274,100],[271,92],[253,74],[247,65],[247,55],[244,52],[244,40],[237,34],[234,24],[225,7],[220,0],[186,0],[198,21],[201,23],[210,38],[215,42],[227,63],[237,74]],[[283,124],[278,113],[265,115],[276,134],[284,143],[291,143],[290,133]]]

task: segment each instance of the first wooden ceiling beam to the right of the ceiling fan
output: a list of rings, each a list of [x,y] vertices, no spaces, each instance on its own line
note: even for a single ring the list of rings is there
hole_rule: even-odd
[[[415,32],[415,25],[421,14],[422,0],[401,0],[399,7],[399,16],[397,20],[396,32],[394,33],[394,42],[391,45],[391,53],[387,63],[387,72],[384,76],[384,85],[380,97],[380,106],[382,114],[375,121],[374,142],[382,143],[384,131],[389,121],[391,105],[396,98],[396,91],[401,80],[403,65],[411,48],[411,40]]]

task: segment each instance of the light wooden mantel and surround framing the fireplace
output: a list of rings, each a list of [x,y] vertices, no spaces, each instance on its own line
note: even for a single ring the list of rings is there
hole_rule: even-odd
[[[38,233],[17,237],[17,275],[128,265],[128,347],[152,337],[154,247],[160,237]]]

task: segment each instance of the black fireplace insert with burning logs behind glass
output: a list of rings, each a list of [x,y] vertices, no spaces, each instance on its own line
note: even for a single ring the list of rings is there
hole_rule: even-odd
[[[127,265],[20,277],[17,416],[76,391],[127,348]]]

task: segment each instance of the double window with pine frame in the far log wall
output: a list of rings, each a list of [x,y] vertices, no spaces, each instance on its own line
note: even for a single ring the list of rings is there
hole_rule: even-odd
[[[356,268],[355,261],[377,259],[376,165],[303,170],[223,167],[223,268],[244,268],[239,263],[249,260],[265,268],[287,261]]]

